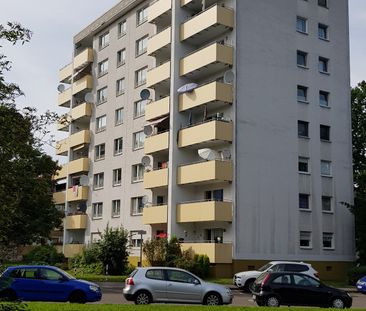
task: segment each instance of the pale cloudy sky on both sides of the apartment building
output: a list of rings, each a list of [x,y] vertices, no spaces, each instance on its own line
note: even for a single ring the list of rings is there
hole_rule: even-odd
[[[276,0],[277,1],[277,0]],[[336,4],[338,1],[335,0]],[[25,93],[17,103],[65,113],[57,106],[58,71],[72,59],[72,38],[119,0],[0,0],[0,24],[20,22],[33,31],[30,43],[3,44],[0,53],[13,62],[7,81]],[[351,85],[366,80],[366,0],[349,0]],[[56,132],[55,132],[56,133]],[[56,133],[56,138],[61,135]],[[45,151],[54,156],[51,147]]]

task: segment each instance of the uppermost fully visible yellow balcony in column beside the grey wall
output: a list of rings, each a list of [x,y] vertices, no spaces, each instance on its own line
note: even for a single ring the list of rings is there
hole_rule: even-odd
[[[234,11],[215,5],[180,27],[180,40],[191,44],[212,41],[234,27]]]

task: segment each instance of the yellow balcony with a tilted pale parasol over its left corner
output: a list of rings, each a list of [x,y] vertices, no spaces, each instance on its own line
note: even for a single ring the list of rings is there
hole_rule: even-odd
[[[217,109],[233,103],[233,87],[230,84],[211,82],[192,92],[179,95],[179,111],[186,111],[202,105]]]

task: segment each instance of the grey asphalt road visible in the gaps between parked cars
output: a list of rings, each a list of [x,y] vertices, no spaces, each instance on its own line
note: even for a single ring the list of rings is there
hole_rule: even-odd
[[[133,302],[127,301],[124,299],[122,294],[123,283],[110,283],[110,282],[102,282],[99,283],[102,288],[103,298],[98,303],[107,303],[107,304],[133,304]],[[243,293],[240,290],[232,287],[234,293],[233,305],[236,306],[256,306],[256,303],[253,301],[252,296],[247,293]],[[351,290],[351,295],[353,297],[353,305],[352,308],[366,308],[366,295],[362,295],[357,293],[355,290]]]

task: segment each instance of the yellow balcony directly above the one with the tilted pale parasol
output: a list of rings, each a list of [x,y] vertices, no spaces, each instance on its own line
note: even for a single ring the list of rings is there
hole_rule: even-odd
[[[192,79],[207,78],[233,65],[234,49],[231,46],[213,43],[180,61],[180,75]]]

